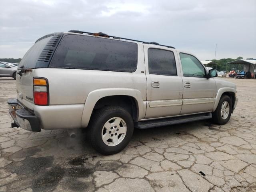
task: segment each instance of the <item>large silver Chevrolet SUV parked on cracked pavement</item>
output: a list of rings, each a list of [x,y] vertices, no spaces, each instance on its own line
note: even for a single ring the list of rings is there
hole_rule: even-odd
[[[102,154],[126,147],[134,127],[212,119],[225,124],[236,85],[192,54],[156,42],[71,30],[38,39],[20,62],[12,126],[88,130]]]

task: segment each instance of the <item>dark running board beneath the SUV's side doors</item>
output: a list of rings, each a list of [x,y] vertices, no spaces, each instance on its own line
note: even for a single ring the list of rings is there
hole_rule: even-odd
[[[179,116],[165,119],[156,119],[148,121],[140,121],[134,124],[134,127],[139,129],[148,129],[153,127],[168,126],[173,124],[187,123],[192,121],[199,121],[212,118],[212,113],[203,113],[189,116]]]

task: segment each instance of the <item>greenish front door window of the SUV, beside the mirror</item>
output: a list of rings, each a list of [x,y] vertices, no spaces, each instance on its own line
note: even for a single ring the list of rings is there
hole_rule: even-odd
[[[204,77],[204,67],[194,56],[180,53],[180,60],[184,76]]]

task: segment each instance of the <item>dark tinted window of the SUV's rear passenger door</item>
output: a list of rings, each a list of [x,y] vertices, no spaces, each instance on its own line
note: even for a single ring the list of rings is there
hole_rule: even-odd
[[[173,52],[149,48],[148,70],[150,74],[177,75]]]

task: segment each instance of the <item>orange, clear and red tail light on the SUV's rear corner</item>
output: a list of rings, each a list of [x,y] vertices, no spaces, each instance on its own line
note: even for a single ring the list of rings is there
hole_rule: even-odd
[[[49,105],[49,87],[46,78],[33,79],[34,104]]]

